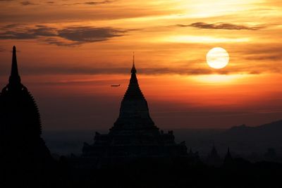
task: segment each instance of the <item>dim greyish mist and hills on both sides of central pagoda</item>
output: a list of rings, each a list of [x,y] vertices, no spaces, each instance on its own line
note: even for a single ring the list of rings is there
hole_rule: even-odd
[[[282,156],[282,121],[257,127],[239,125],[230,129],[168,129],[173,130],[176,142],[186,142],[192,151],[199,151],[206,157],[215,145],[223,157],[230,147],[235,156],[247,157],[252,161],[261,159],[279,161]],[[164,130],[167,132],[168,130]],[[107,133],[109,130],[61,130],[45,131],[43,137],[51,153],[56,155],[80,155],[83,142],[91,143],[94,133]],[[265,158],[269,149],[274,149],[277,158]],[[278,158],[280,156],[280,158]]]

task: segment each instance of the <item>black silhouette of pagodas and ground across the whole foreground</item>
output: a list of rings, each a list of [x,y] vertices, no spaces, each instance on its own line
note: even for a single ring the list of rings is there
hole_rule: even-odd
[[[97,133],[82,157],[54,161],[41,138],[35,101],[20,82],[14,47],[11,76],[0,94],[0,187],[282,187],[281,163],[250,163],[233,157],[229,148],[219,163],[215,146],[209,165],[197,152],[187,153],[173,132],[164,134],[154,125],[135,73],[133,64],[109,134]]]

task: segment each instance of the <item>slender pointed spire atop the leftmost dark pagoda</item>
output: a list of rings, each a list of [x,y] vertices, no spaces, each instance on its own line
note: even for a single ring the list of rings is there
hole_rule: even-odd
[[[18,62],[16,54],[16,46],[13,46],[13,58],[12,58],[12,67],[11,75],[9,77],[9,86],[20,85],[20,75],[18,75]]]

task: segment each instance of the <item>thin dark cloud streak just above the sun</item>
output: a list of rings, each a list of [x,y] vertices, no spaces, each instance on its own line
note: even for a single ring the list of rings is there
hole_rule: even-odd
[[[196,27],[199,29],[212,29],[212,30],[260,30],[265,28],[262,25],[246,26],[235,25],[232,23],[192,23],[190,25],[176,25],[177,27]]]

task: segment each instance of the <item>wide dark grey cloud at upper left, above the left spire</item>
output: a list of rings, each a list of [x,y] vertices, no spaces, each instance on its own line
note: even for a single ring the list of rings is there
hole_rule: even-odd
[[[73,26],[58,29],[45,25],[26,27],[22,25],[6,25],[2,27],[0,39],[39,39],[48,44],[58,46],[77,46],[86,42],[102,42],[113,37],[121,37],[128,30],[113,27]]]

